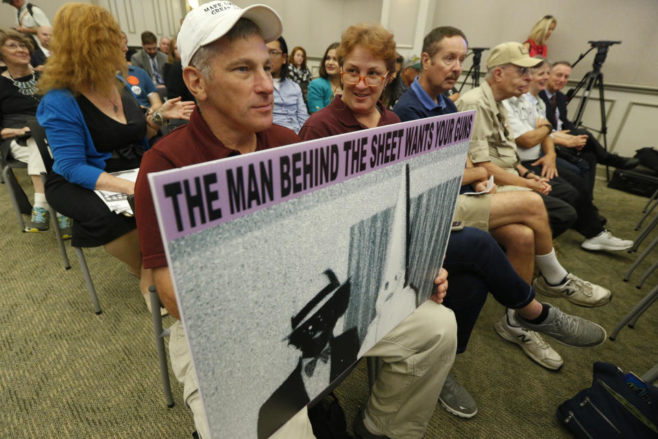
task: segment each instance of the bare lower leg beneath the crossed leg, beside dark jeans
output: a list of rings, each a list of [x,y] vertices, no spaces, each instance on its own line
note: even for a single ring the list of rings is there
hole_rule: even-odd
[[[533,281],[535,272],[535,234],[523,224],[507,224],[489,230],[493,239],[505,248],[507,259],[514,271],[528,283]]]

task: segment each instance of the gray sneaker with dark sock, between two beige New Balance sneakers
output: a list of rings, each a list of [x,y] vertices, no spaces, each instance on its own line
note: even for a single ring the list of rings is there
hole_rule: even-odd
[[[519,313],[515,313],[515,318],[527,329],[550,335],[567,346],[592,348],[605,342],[605,329],[585,318],[563,313],[558,307],[550,306],[548,317],[543,323],[530,323]]]

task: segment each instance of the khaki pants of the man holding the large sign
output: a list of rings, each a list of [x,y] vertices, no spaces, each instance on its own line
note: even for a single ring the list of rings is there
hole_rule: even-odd
[[[366,353],[382,360],[366,412],[386,436],[393,439],[423,437],[443,381],[452,368],[456,333],[454,313],[428,300]],[[192,410],[197,433],[207,439],[210,437],[208,420],[180,321],[171,327],[169,355],[173,373],[184,385],[183,398]],[[315,439],[306,407],[271,439]]]

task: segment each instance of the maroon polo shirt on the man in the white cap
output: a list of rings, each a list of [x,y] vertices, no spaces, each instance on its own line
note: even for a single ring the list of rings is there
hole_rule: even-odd
[[[300,138],[293,130],[272,125],[267,130],[256,133],[256,151],[299,141]],[[198,108],[192,113],[190,123],[167,134],[144,154],[135,183],[135,216],[144,268],[167,265],[147,174],[239,154],[238,151],[224,146],[215,134],[212,134]]]

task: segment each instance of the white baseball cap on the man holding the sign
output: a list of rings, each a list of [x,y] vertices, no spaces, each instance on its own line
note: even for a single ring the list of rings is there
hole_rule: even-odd
[[[281,17],[269,6],[251,5],[242,9],[231,1],[204,3],[185,16],[178,32],[177,43],[182,66],[190,64],[199,47],[219,40],[242,18],[260,27],[265,43],[276,40],[283,32]]]

